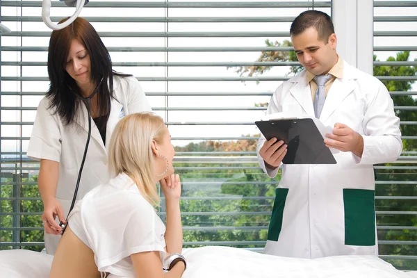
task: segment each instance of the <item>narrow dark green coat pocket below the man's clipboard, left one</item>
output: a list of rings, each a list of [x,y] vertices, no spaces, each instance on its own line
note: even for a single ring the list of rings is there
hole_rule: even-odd
[[[287,195],[288,188],[275,189],[275,201],[274,207],[272,208],[270,227],[268,229],[268,240],[278,241],[282,228],[282,218]]]

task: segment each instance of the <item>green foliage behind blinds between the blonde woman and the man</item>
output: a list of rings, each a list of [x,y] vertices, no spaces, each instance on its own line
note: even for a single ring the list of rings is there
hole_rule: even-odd
[[[206,165],[203,164],[174,166],[179,169],[176,172],[183,182],[184,242],[211,241],[210,245],[216,245],[216,242],[228,241],[231,243],[225,245],[234,246],[236,241],[243,242],[239,247],[263,247],[275,192],[275,185],[256,183],[270,181],[265,174],[260,170],[222,170],[222,167],[242,166],[239,164],[213,165],[218,170],[204,170]],[[202,169],[187,170],[187,167]],[[202,184],[188,184],[190,181],[202,181]],[[259,243],[245,244],[245,241]],[[186,247],[195,246],[200,245]]]

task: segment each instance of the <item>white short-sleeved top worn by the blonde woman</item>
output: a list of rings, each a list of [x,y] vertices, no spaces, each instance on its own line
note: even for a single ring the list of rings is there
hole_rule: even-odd
[[[159,251],[165,257],[165,224],[126,174],[97,186],[76,203],[72,231],[95,254],[100,272],[135,277],[131,254]]]

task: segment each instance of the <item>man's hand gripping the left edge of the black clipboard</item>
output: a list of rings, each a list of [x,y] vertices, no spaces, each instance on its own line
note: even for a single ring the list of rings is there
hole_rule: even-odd
[[[283,140],[277,142],[277,138],[266,141],[259,150],[259,154],[265,161],[265,166],[270,170],[275,170],[281,164],[287,152],[287,145]]]

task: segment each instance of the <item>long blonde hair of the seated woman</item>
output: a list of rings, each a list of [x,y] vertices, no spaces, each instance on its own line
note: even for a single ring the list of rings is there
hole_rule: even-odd
[[[161,143],[165,123],[155,113],[134,113],[117,123],[108,147],[108,166],[112,174],[127,174],[140,193],[152,205],[158,206],[154,177],[152,140]]]

